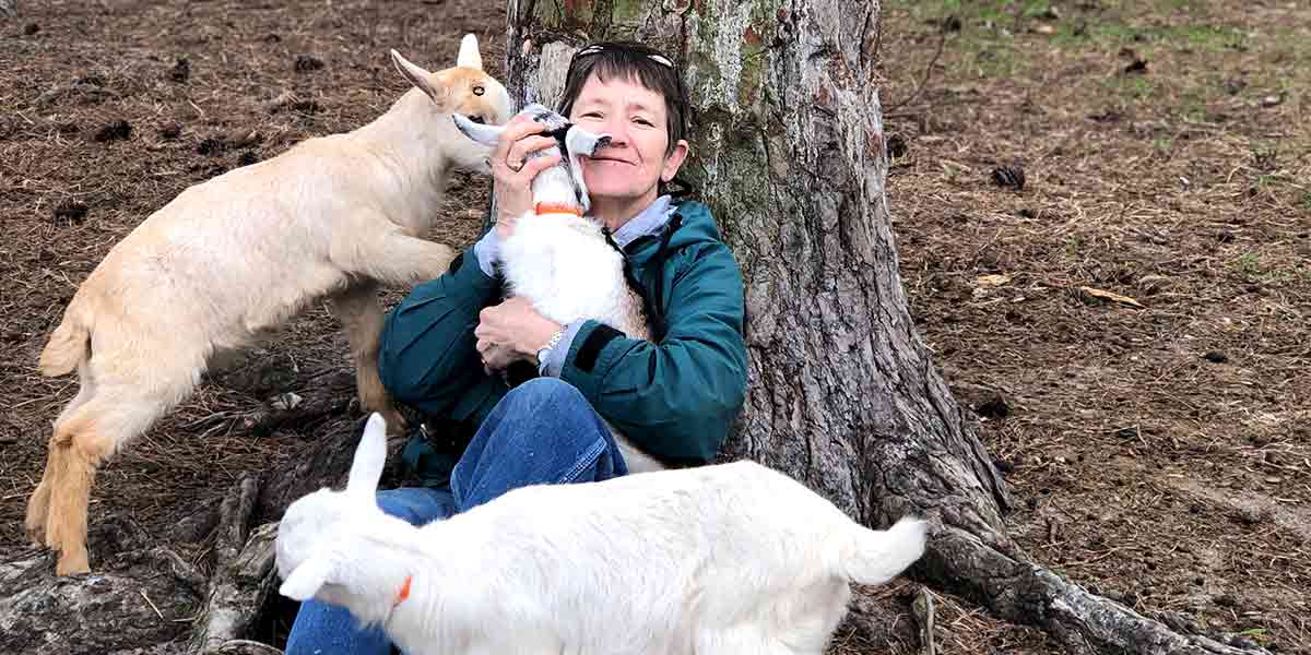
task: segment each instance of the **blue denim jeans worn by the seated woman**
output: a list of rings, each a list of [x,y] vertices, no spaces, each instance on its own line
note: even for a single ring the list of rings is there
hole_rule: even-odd
[[[511,389],[492,409],[456,462],[450,490],[379,491],[378,507],[423,525],[511,489],[597,482],[627,473],[610,430],[582,393],[555,377],[538,377]],[[350,612],[316,600],[300,604],[286,647],[287,655],[391,652],[392,645],[380,627],[361,630]]]

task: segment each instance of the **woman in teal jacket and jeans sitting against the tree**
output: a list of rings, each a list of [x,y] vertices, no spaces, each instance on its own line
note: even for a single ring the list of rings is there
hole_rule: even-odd
[[[519,299],[501,301],[498,244],[532,204],[531,181],[558,157],[541,123],[510,121],[492,156],[498,220],[451,270],[388,316],[379,372],[426,421],[404,462],[422,486],[380,491],[379,507],[416,525],[534,483],[603,481],[628,472],[608,419],[670,466],[709,462],[746,393],[742,276],[709,210],[667,194],[687,157],[687,92],[665,55],[598,43],[569,64],[558,111],[608,147],[583,160],[591,212],[611,229],[657,314],[652,342],[595,321],[555,324]],[[514,388],[499,371],[539,376]],[[387,655],[374,627],[305,603],[287,654]]]

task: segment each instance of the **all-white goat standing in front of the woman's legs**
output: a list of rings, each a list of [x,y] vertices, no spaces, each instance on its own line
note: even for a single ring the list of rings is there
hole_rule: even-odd
[[[539,485],[416,528],[378,508],[385,422],[345,491],[278,527],[281,593],[345,607],[409,655],[819,655],[848,583],[881,584],[926,523],[871,531],[750,461]]]

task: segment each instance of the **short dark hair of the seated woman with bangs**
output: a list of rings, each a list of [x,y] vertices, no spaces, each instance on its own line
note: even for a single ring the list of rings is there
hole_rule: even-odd
[[[669,135],[666,155],[674,152],[678,141],[687,138],[687,88],[674,60],[663,52],[632,41],[606,41],[579,48],[565,73],[565,90],[558,109],[561,114],[569,115],[593,73],[600,81],[611,77],[636,80],[665,98],[665,132]]]

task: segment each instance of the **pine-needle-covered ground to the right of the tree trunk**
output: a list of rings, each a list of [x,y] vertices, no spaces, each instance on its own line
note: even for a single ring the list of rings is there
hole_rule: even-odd
[[[982,430],[1037,561],[1306,652],[1311,14],[1173,4],[969,5],[888,123],[901,270],[958,398],[1009,410]],[[889,102],[941,16],[888,7]]]

